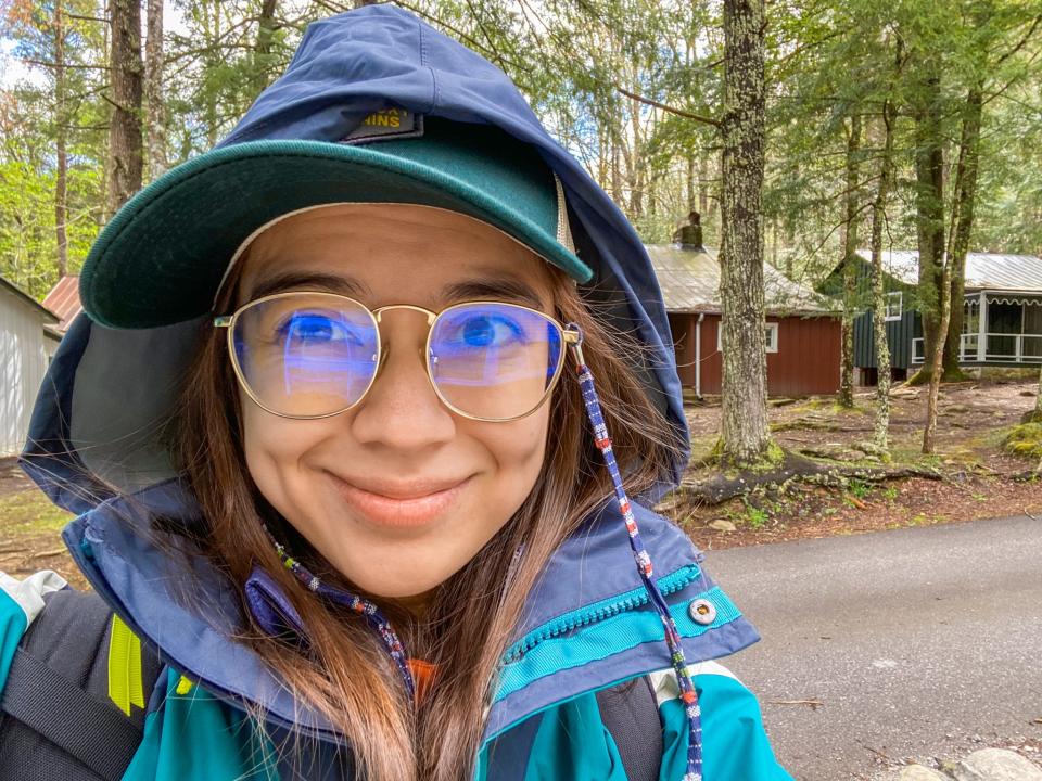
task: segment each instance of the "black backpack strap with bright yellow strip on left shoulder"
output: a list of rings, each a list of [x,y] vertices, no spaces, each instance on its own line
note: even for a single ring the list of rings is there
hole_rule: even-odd
[[[118,781],[162,664],[98,594],[45,599],[0,699],[0,781]]]

